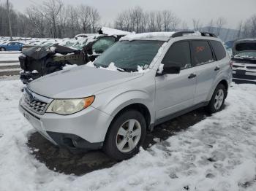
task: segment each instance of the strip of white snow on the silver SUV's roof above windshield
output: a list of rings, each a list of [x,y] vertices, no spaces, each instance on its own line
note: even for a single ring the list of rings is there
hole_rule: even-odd
[[[120,41],[146,40],[146,39],[167,41],[175,33],[176,32],[154,32],[154,33],[129,34],[127,36],[122,37]]]

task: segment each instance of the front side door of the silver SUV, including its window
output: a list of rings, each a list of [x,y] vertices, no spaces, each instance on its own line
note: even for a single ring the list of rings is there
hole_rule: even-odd
[[[156,118],[187,109],[194,104],[196,75],[192,68],[188,41],[175,42],[167,51],[163,64],[181,67],[180,74],[156,77]]]

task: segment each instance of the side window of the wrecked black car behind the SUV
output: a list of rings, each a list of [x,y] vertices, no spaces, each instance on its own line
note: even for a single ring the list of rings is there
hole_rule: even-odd
[[[96,53],[102,53],[115,43],[114,37],[102,37],[92,45],[92,50]]]

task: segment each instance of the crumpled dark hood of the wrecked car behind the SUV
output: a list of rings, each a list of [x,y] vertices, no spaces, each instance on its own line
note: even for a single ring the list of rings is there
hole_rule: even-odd
[[[51,47],[41,47],[41,46],[31,47],[23,50],[22,53],[23,55],[29,56],[30,58],[39,60],[50,54],[51,55],[54,55],[55,53],[68,54],[76,51],[78,50],[74,50],[72,48],[64,47],[56,44]]]

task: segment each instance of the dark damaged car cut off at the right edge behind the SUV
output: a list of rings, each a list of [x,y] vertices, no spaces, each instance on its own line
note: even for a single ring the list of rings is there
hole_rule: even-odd
[[[233,81],[256,84],[256,39],[240,39],[233,45]]]

